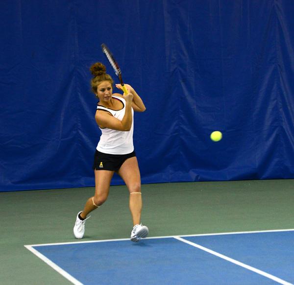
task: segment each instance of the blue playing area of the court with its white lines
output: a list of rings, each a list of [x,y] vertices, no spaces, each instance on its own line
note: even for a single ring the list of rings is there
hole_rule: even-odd
[[[25,247],[73,284],[294,283],[294,230]]]

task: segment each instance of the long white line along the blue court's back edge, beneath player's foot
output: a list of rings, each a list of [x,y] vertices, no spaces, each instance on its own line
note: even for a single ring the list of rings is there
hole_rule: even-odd
[[[258,234],[258,233],[275,233],[275,232],[293,232],[294,229],[283,229],[283,230],[265,230],[265,231],[247,231],[247,232],[227,232],[227,233],[213,233],[213,234],[196,234],[196,235],[176,235],[176,237],[203,237],[203,236],[219,236],[219,235],[240,235],[240,234]],[[169,238],[173,236],[161,236],[161,237],[146,237],[144,239],[153,238]],[[64,244],[77,244],[77,243],[92,243],[92,242],[106,242],[106,241],[123,241],[130,240],[129,238],[115,238],[115,239],[98,239],[98,240],[80,240],[80,241],[69,241],[69,242],[56,242],[56,243],[40,243],[40,244],[27,244],[27,246],[47,246],[47,245],[64,245]]]

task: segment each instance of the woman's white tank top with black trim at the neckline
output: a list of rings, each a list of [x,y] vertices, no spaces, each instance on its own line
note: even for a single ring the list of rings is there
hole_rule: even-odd
[[[123,103],[123,109],[116,111],[97,105],[97,110],[104,110],[119,120],[123,120],[125,113],[125,100],[122,97],[112,95],[115,100]],[[134,131],[134,110],[132,108],[132,126],[127,132],[117,131],[109,128],[100,128],[102,135],[97,145],[97,150],[109,154],[128,154],[134,151],[133,131]]]

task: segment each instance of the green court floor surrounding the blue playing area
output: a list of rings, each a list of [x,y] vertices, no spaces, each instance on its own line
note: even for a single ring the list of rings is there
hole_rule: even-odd
[[[72,233],[76,213],[93,191],[0,193],[2,284],[71,284],[24,245],[76,242]],[[293,180],[151,184],[143,185],[142,191],[142,222],[151,238],[144,242],[152,237],[293,229],[294,225]],[[91,215],[82,241],[128,239],[132,224],[126,187],[111,187],[107,202]],[[126,244],[132,243],[127,240]],[[189,252],[198,250],[189,244],[181,246]]]

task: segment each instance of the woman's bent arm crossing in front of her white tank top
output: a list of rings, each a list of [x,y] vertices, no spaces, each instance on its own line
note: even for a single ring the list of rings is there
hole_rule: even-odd
[[[118,131],[129,131],[132,126],[132,100],[131,93],[123,96],[125,99],[125,113],[122,120],[113,117],[110,113],[97,110],[95,120],[101,128],[108,128]]]

